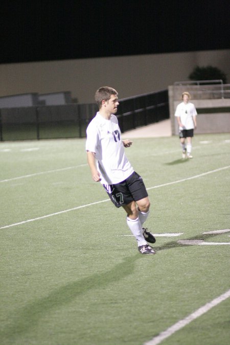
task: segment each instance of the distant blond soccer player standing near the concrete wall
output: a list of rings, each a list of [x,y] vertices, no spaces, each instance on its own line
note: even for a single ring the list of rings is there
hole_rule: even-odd
[[[190,94],[183,92],[181,96],[183,102],[177,105],[175,117],[179,125],[179,138],[182,147],[182,158],[192,158],[192,137],[196,128],[196,108],[190,103]],[[187,145],[186,145],[187,139]]]

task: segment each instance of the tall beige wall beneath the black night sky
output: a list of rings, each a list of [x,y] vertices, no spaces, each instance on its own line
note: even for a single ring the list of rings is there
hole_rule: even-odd
[[[79,103],[94,102],[98,87],[109,85],[125,98],[186,81],[195,65],[219,67],[230,82],[230,50],[151,54],[0,65],[0,97],[70,91]]]

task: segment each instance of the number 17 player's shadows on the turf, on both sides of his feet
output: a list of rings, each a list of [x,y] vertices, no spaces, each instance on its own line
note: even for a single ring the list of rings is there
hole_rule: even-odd
[[[202,234],[187,240],[206,240],[219,234]],[[167,242],[161,246],[154,246],[156,251],[184,247],[176,241]],[[39,298],[37,301],[28,304],[25,308],[18,310],[11,320],[11,326],[6,327],[1,332],[2,341],[17,342],[17,338],[23,336],[33,329],[38,320],[51,310],[56,310],[60,306],[71,303],[77,296],[85,294],[89,290],[100,289],[113,282],[118,282],[130,275],[137,259],[143,258],[139,253],[127,257],[122,263],[117,264],[111,270],[103,273],[94,273],[90,277],[83,278],[76,282],[64,285],[49,295]],[[4,342],[3,342],[4,343]]]

